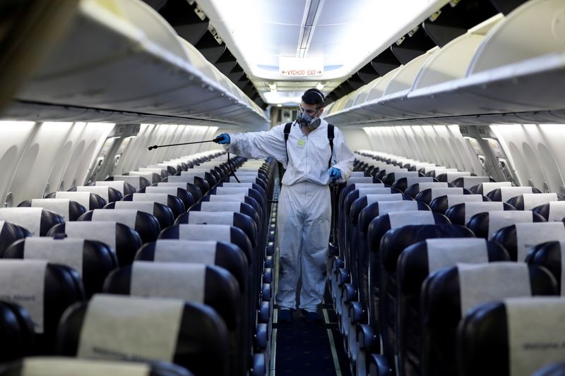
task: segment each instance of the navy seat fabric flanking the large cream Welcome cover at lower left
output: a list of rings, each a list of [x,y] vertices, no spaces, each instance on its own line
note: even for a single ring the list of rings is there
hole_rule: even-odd
[[[114,305],[119,306],[121,315],[115,318],[120,320],[118,327],[120,333],[137,330],[138,322],[145,322],[146,326],[152,325],[152,322],[148,321],[151,320],[151,315],[147,313],[139,315],[136,310],[138,302],[143,302],[144,305],[152,307],[151,312],[158,312],[158,307],[161,305],[160,299],[155,298],[106,296],[105,294],[95,295],[88,303],[73,305],[67,310],[59,324],[59,332],[57,333],[57,353],[59,355],[71,357],[78,355],[83,327],[88,325],[88,320],[90,320],[87,314],[88,308],[97,305],[102,298],[111,300]],[[178,300],[178,305],[182,311],[178,332],[174,334],[176,345],[173,349],[172,362],[191,370],[194,375],[230,375],[229,337],[222,317],[213,308],[201,303]],[[97,311],[99,315],[105,313],[109,317],[114,317],[115,308],[112,309],[112,306],[108,306],[106,309],[99,308]],[[136,326],[131,327],[131,322],[136,322]],[[108,331],[105,327],[97,328],[97,330],[105,334],[110,342],[114,336],[120,336],[120,333]],[[138,343],[136,342],[127,343],[119,351],[129,354],[131,357],[142,356],[145,360],[171,360],[157,358],[157,356],[151,356],[147,353],[138,355]],[[112,356],[112,353],[109,355],[102,354],[100,358],[123,359],[119,353],[115,356]]]

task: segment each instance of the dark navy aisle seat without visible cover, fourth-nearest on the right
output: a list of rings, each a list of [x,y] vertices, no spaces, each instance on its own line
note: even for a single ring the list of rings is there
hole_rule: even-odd
[[[383,343],[382,353],[384,358],[388,360],[389,364],[394,364],[394,356],[396,355],[395,346],[397,336],[395,329],[396,319],[398,317],[398,300],[396,295],[398,290],[397,265],[400,254],[408,247],[408,245],[412,245],[418,241],[426,239],[475,237],[475,235],[472,234],[472,231],[466,227],[449,224],[449,219],[441,214],[432,212],[422,213],[433,214],[433,222],[428,219],[428,224],[400,226],[398,229],[393,228],[391,231],[386,231],[381,239],[379,255],[376,255],[374,252],[371,252],[370,255],[371,271],[369,272],[369,295],[371,297],[373,297],[376,292],[376,281],[372,279],[371,273],[374,271],[374,265],[378,261],[380,262],[379,269],[381,272],[379,301],[376,301],[374,298],[369,300],[369,312],[371,315],[370,322],[378,323],[380,327]],[[380,232],[383,229],[386,229],[386,220],[388,219],[390,222],[390,217],[393,217],[393,214],[389,213],[385,216],[379,216],[374,219],[374,224],[376,224],[375,231]],[[389,218],[386,218],[387,216]],[[385,218],[379,221],[380,217]],[[370,231],[371,230],[369,229],[369,236],[371,236]],[[379,260],[374,260],[375,258],[379,258]],[[377,307],[379,308],[379,311],[376,310]]]

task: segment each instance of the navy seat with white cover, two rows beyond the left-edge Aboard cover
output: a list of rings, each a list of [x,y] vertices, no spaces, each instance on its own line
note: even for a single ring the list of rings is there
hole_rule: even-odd
[[[114,250],[119,266],[131,264],[142,244],[141,237],[136,230],[117,222],[67,222],[53,226],[47,236],[56,234],[66,234],[69,238],[100,241],[109,245],[109,248]]]

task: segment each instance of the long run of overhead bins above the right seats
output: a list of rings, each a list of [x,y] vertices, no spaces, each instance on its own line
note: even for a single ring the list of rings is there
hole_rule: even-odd
[[[562,121],[564,25],[562,0],[528,1],[446,44],[417,74],[408,75],[407,68],[397,68],[393,77],[388,73],[364,103],[334,106],[326,120],[340,125]],[[407,92],[393,94],[405,83],[396,79],[398,72],[412,82]]]

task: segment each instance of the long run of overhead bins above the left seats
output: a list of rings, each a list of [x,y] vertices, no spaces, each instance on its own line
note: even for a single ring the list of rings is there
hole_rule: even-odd
[[[102,110],[97,121],[266,128],[263,111],[193,49],[143,1],[82,0],[69,32],[16,95],[16,113],[48,104],[57,119],[93,121]]]

